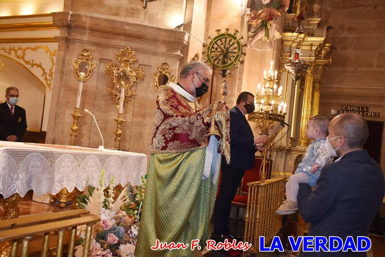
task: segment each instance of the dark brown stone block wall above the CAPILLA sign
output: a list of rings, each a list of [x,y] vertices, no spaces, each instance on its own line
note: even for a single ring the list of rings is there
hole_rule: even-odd
[[[385,121],[385,2],[323,1],[321,16],[324,24],[333,26],[326,42],[336,51],[323,75],[320,113],[343,105],[368,106],[380,117],[365,119]],[[382,138],[385,170],[385,134]]]

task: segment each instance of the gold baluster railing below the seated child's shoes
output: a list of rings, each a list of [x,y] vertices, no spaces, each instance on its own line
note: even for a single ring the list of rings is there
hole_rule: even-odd
[[[284,200],[285,178],[272,178],[247,184],[249,194],[245,215],[244,242],[253,246],[248,252],[259,252],[258,239],[264,236],[265,241],[278,233],[281,228],[282,216],[275,211]]]

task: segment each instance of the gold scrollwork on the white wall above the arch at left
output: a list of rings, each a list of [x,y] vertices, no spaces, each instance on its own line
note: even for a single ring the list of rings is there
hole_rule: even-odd
[[[51,61],[51,67],[50,67],[48,72],[44,69],[41,62],[35,63],[35,60],[25,59],[25,54],[26,54],[27,50],[37,52],[37,50],[39,50],[39,49],[43,49],[45,51],[45,53],[49,55],[49,59]],[[9,48],[2,47],[2,48],[0,48],[0,50],[3,50],[8,55],[12,55],[12,52],[13,52],[15,57],[19,60],[22,60],[27,66],[29,65],[31,68],[36,67],[38,69],[41,69],[42,70],[42,77],[45,81],[45,84],[49,88],[49,91],[51,91],[52,80],[54,79],[54,66],[55,66],[54,57],[56,57],[57,49],[54,49],[53,51],[51,51],[47,45],[39,45],[39,46],[25,47],[25,48],[20,47],[20,46],[17,48],[16,47],[9,47]]]

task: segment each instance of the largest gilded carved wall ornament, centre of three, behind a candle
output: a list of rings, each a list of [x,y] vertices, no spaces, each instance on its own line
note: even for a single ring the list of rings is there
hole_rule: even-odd
[[[135,90],[131,91],[131,87],[134,86],[134,82],[143,79],[144,71],[142,68],[131,67],[131,64],[137,62],[138,59],[135,56],[135,51],[128,46],[121,49],[115,59],[121,62],[120,67],[117,64],[108,62],[105,66],[105,74],[111,78],[112,86],[108,88],[108,92],[114,99],[116,108],[119,109],[121,87],[125,87],[124,104],[127,105],[127,102],[131,101],[131,97],[133,98],[136,95]]]

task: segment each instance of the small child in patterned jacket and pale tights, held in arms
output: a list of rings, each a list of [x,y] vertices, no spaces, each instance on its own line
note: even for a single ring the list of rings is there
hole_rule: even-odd
[[[321,170],[326,163],[333,160],[333,156],[326,151],[326,136],[330,118],[325,114],[318,114],[309,118],[306,125],[306,137],[313,139],[306,149],[305,156],[298,165],[294,175],[286,183],[286,200],[276,211],[279,215],[295,213],[297,207],[297,195],[300,183],[315,186]]]

